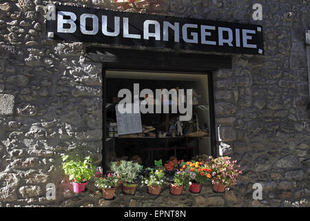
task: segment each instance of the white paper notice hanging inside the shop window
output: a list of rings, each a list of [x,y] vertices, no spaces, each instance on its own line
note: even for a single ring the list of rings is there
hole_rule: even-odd
[[[133,107],[134,105],[132,105]],[[142,133],[141,113],[120,113],[115,106],[118,135]]]

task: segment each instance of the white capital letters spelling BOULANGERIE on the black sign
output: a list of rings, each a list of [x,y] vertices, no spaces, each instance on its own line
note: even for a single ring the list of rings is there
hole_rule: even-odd
[[[52,20],[56,9],[52,8],[52,6],[49,6],[49,8],[47,19]],[[252,30],[249,28],[235,28],[236,25],[229,28],[228,25],[216,26],[163,20],[160,22],[154,19],[146,19],[141,21],[140,25],[143,26],[141,30],[141,27],[137,26],[136,23],[130,23],[129,17],[108,17],[108,15],[83,13],[79,16],[79,21],[76,21],[77,18],[74,12],[60,10],[56,14],[56,30],[59,33],[74,33],[79,28],[81,33],[77,34],[80,36],[81,34],[97,35],[102,32],[107,37],[123,37],[127,39],[155,39],[156,41],[174,41],[175,43],[183,40],[183,43],[188,44],[223,46],[226,48],[257,48],[258,53],[262,54],[262,48],[258,48],[258,39],[256,37],[262,32],[259,26]],[[110,26],[108,21],[111,23]],[[137,21],[134,20],[134,22]],[[77,23],[79,23],[80,27],[76,27]],[[49,36],[53,37],[52,34],[53,32],[49,32]]]

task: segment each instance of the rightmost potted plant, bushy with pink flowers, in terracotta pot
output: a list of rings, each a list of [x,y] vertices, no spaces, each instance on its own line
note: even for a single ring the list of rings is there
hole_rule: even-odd
[[[218,157],[211,159],[212,173],[211,182],[213,190],[217,193],[224,193],[230,186],[237,184],[236,177],[242,173],[238,170],[240,165],[236,160],[230,161],[231,157]]]

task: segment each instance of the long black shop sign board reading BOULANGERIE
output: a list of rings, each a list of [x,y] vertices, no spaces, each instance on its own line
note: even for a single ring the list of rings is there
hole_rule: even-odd
[[[59,41],[254,55],[264,53],[262,27],[253,24],[53,4],[47,8],[48,37]]]

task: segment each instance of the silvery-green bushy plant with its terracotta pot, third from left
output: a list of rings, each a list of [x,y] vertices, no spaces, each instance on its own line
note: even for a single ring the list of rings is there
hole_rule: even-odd
[[[110,167],[114,173],[121,175],[123,193],[134,195],[138,186],[137,178],[141,172],[141,165],[132,161],[120,160],[112,162]]]

